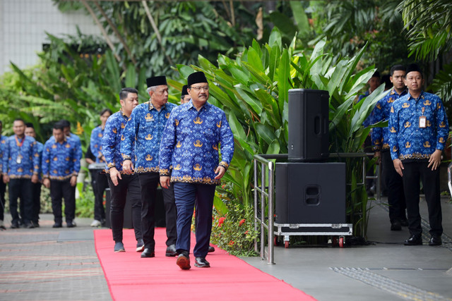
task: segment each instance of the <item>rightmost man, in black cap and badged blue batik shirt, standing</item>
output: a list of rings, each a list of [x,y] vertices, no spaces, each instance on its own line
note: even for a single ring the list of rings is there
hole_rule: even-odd
[[[389,146],[394,168],[403,179],[411,237],[405,245],[422,245],[419,212],[420,179],[429,209],[429,245],[441,245],[443,233],[439,165],[448,138],[448,121],[441,99],[422,91],[424,78],[419,66],[408,66],[408,94],[393,103],[389,116]]]

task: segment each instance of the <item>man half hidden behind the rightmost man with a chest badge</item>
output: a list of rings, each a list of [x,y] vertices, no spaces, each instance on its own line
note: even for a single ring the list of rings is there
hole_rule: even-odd
[[[373,123],[388,121],[389,112],[393,102],[399,97],[408,93],[405,87],[405,66],[395,65],[391,68],[391,77],[393,88],[385,97],[376,103],[373,115]],[[388,127],[372,129],[372,145],[374,145],[375,156],[381,159],[383,166],[384,179],[388,189],[389,221],[391,222],[391,231],[400,231],[402,226],[408,226],[405,215],[405,195],[403,194],[402,177],[394,169],[393,160],[389,152]]]

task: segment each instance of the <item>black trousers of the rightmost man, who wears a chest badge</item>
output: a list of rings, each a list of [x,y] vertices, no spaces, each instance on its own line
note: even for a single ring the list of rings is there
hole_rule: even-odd
[[[429,209],[430,234],[440,236],[443,233],[441,215],[441,196],[439,194],[439,168],[432,171],[428,162],[403,162],[403,188],[408,214],[408,230],[411,235],[422,233],[419,212],[420,179],[424,187],[425,200]]]

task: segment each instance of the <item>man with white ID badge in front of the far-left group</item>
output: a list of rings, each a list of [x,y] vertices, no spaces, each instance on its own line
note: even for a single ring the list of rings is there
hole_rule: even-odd
[[[32,183],[39,181],[39,158],[35,138],[25,136],[25,122],[16,119],[13,123],[14,135],[8,137],[3,154],[3,180],[8,184],[9,209],[11,211],[11,228],[19,228],[20,217],[18,202],[23,202],[23,212],[20,212],[24,226],[33,225]],[[30,181],[31,178],[31,181]]]

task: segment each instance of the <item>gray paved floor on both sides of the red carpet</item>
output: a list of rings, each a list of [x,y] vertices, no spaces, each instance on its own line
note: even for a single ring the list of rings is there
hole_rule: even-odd
[[[276,247],[274,265],[244,260],[317,300],[452,300],[452,204],[443,199],[442,206],[442,247],[404,246],[408,230],[389,231],[386,207],[374,203],[368,231],[374,245]],[[40,228],[0,232],[0,300],[111,300],[91,220],[76,221],[76,228],[53,229],[52,215],[43,214]]]

